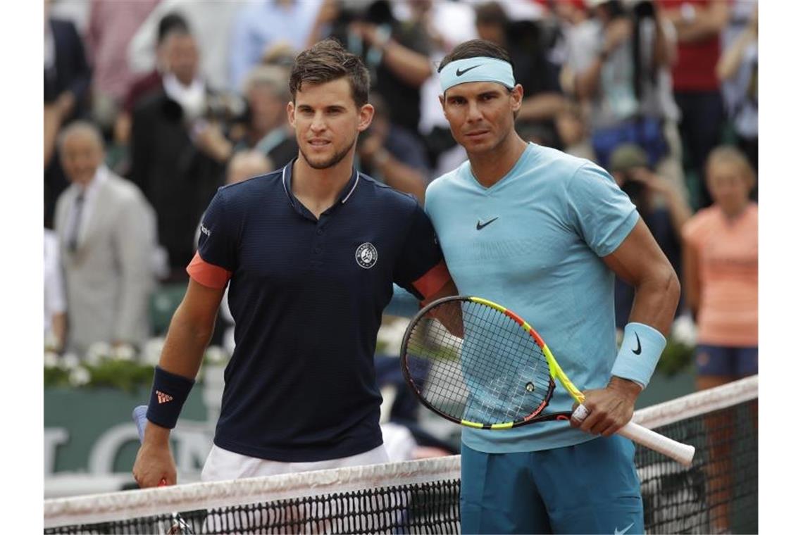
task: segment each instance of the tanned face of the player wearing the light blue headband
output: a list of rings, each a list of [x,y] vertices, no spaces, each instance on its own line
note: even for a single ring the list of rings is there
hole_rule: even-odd
[[[522,88],[512,92],[500,83],[460,83],[441,97],[443,113],[467,152],[493,151],[513,132],[513,113],[521,107]]]

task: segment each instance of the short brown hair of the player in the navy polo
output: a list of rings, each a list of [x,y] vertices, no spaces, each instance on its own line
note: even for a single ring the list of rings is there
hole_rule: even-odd
[[[290,72],[290,93],[296,102],[296,92],[303,83],[319,85],[348,77],[352,99],[357,107],[368,103],[371,81],[368,69],[359,56],[345,50],[335,39],[325,39],[296,56]]]

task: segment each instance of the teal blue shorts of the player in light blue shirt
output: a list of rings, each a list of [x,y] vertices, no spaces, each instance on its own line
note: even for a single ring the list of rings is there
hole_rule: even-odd
[[[462,447],[462,533],[644,533],[635,447],[621,436],[541,452]]]

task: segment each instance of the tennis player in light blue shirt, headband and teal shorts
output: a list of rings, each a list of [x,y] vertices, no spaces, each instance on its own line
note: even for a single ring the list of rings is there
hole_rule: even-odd
[[[570,424],[464,428],[463,533],[643,532],[634,445],[613,433],[630,421],[666,343],[675,272],[604,169],[516,134],[523,88],[503,49],[463,43],[438,72],[469,160],[430,184],[426,213],[457,290],[532,324],[588,412]],[[620,348],[614,274],[636,289]],[[558,385],[547,410],[572,408]]]

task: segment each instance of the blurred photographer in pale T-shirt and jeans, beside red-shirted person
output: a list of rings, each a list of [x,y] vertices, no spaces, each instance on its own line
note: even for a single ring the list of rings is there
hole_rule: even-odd
[[[650,166],[686,194],[670,74],[672,25],[651,0],[632,9],[621,0],[586,3],[593,18],[570,36],[569,67],[577,98],[590,104],[597,163],[607,168],[619,144],[638,144]]]

